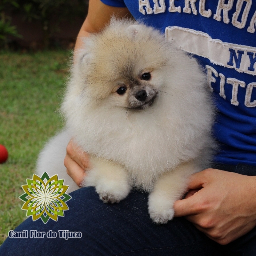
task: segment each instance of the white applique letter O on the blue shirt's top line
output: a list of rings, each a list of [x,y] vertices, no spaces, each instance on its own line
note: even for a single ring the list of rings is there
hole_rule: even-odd
[[[242,10],[242,5],[243,3],[246,2],[246,6],[244,8],[244,12],[242,14],[242,19],[241,22],[238,21],[238,16]],[[245,27],[245,23],[246,20],[248,18],[248,14],[250,11],[250,8],[252,6],[252,0],[238,0],[236,3],[236,12],[233,14],[232,17],[232,24],[236,27],[236,28],[244,28]]]

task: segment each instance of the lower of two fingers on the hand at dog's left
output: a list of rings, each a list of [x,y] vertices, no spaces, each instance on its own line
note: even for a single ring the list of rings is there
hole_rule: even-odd
[[[81,187],[81,183],[86,175],[83,168],[68,155],[66,155],[64,159],[64,165],[67,168],[68,175],[76,182],[79,187]]]

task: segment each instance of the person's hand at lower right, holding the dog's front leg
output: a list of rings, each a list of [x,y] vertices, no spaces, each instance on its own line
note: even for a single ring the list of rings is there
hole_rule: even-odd
[[[175,216],[186,216],[219,244],[228,244],[256,226],[256,176],[207,169],[191,176],[185,199],[174,204]]]

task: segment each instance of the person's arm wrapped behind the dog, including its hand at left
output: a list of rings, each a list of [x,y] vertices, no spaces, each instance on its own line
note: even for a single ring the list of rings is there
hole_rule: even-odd
[[[127,8],[108,6],[103,4],[100,0],[89,1],[87,17],[76,39],[74,58],[76,58],[76,51],[83,47],[82,38],[84,36],[90,36],[90,33],[97,33],[102,30],[108,24],[112,16],[117,18],[132,17]],[[89,167],[89,158],[73,140],[70,140],[68,143],[64,165],[67,168],[68,175],[80,186],[86,175],[84,170]]]

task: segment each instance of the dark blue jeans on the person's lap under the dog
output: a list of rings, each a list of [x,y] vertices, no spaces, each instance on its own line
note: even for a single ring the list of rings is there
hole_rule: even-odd
[[[246,175],[256,175],[256,167],[215,166]],[[148,214],[148,195],[133,190],[119,204],[104,204],[94,188],[70,193],[69,210],[58,221],[44,224],[28,218],[15,231],[80,231],[81,238],[7,238],[1,256],[81,256],[81,255],[256,255],[256,228],[236,241],[222,246],[210,240],[184,218],[165,225],[152,223]]]

